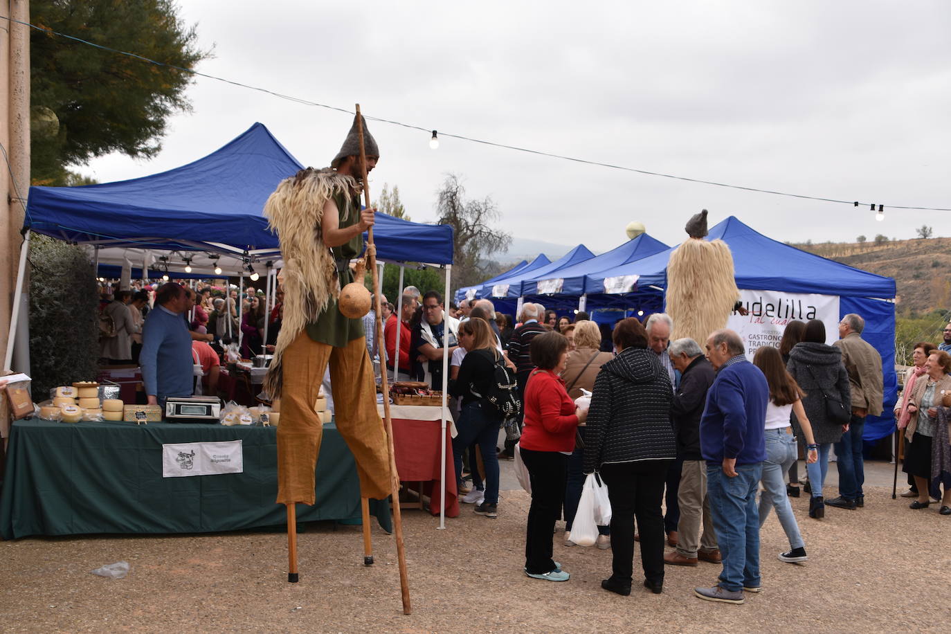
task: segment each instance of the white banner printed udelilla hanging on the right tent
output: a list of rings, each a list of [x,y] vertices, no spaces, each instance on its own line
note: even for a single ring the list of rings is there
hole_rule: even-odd
[[[760,346],[779,348],[786,324],[794,319],[819,319],[825,323],[825,343],[839,338],[839,296],[784,293],[782,291],[740,290],[740,301],[749,315],[731,313],[727,327],[735,330],[747,346],[747,358],[753,360]],[[705,342],[699,342],[701,346]]]

